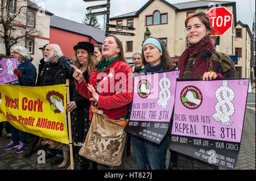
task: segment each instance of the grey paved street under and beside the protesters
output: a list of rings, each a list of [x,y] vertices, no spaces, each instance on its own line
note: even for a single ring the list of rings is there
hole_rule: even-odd
[[[248,94],[245,121],[243,125],[243,134],[241,141],[240,153],[236,170],[255,170],[255,83],[251,85],[252,92]],[[250,100],[248,102],[248,100]],[[51,165],[50,159],[46,159],[46,163],[38,163],[37,151],[31,157],[23,157],[23,153],[14,154],[14,149],[3,151],[2,148],[9,144],[10,138],[4,131],[0,137],[0,170],[64,170],[68,165],[59,169],[57,165]],[[170,160],[170,151],[167,152],[167,166]],[[80,169],[79,165],[75,165],[76,169]],[[134,151],[131,146],[131,155],[127,157],[126,170],[138,170]],[[222,169],[221,170],[225,170]]]

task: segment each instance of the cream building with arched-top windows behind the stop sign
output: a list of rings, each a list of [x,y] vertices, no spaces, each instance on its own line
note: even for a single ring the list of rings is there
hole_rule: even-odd
[[[233,14],[233,23],[232,28],[229,28],[223,36],[215,37],[216,49],[232,57],[236,64],[237,77],[249,78],[250,56],[248,55],[251,32],[245,24],[237,23],[236,2],[193,1],[172,5],[164,0],[150,0],[138,11],[110,18],[111,24],[131,26],[135,28],[134,31],[116,28],[110,28],[110,30],[135,34],[135,36],[117,35],[122,41],[125,57],[129,62],[132,62],[131,56],[135,50],[142,50],[142,41],[147,27],[152,37],[157,37],[166,44],[171,60],[177,64],[187,47],[187,33],[184,25],[187,16],[199,10],[207,13],[211,7],[218,6],[225,6]],[[241,37],[236,37],[236,30],[241,31]]]

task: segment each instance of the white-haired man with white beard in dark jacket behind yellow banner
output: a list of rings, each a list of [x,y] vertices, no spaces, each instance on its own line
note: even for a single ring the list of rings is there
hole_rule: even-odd
[[[43,51],[44,64],[43,72],[40,77],[39,86],[52,86],[65,84],[66,79],[72,77],[71,61],[63,56],[59,45],[49,44]],[[63,151],[60,149],[47,149],[46,159],[55,156],[51,160],[52,165],[63,161]]]

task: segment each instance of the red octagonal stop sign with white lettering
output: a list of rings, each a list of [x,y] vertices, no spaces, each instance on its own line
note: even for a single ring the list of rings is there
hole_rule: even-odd
[[[212,7],[207,16],[210,18],[210,27],[215,30],[215,36],[224,35],[232,27],[233,14],[226,7]]]

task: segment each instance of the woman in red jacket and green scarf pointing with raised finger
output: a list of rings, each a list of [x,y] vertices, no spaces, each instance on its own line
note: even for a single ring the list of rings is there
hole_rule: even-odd
[[[91,101],[89,118],[92,120],[92,124],[93,119],[96,119],[95,117],[100,114],[102,119],[104,116],[108,117],[109,120],[123,124],[124,128],[127,125],[127,104],[133,100],[133,71],[123,56],[122,43],[117,37],[113,35],[105,37],[102,44],[102,55],[105,60],[100,61],[98,68],[90,73],[88,84],[81,71],[72,65],[75,69],[73,77],[76,79],[76,89],[82,96]],[[126,145],[126,143],[124,144]],[[112,150],[110,147],[113,144],[107,146],[108,151]],[[113,151],[115,150],[110,151],[110,154]],[[125,162],[126,151],[122,152],[118,153],[123,154],[122,164],[114,167],[114,169],[125,169],[123,163]],[[106,165],[99,164],[98,169],[109,169]],[[108,165],[112,165],[111,162]]]

